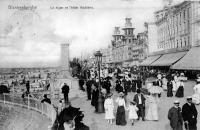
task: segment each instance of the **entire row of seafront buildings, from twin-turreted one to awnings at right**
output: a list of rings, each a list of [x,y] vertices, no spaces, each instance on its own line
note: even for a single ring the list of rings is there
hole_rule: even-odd
[[[159,66],[200,69],[200,2],[167,5],[154,13],[154,22],[134,35],[131,18],[115,27],[113,40],[102,49],[103,64],[111,66]]]

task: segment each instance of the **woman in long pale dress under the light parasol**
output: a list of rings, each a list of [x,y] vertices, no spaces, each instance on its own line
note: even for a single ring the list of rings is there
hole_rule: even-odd
[[[158,121],[158,94],[148,96],[149,107],[147,109],[146,120]]]

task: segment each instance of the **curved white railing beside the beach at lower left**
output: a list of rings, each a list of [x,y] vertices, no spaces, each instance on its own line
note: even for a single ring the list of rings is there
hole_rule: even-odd
[[[0,94],[0,102],[4,104],[11,104],[21,106],[30,110],[37,111],[45,115],[51,120],[52,124],[56,119],[57,112],[55,108],[48,103],[41,103],[39,100],[31,97],[22,98],[20,95],[14,94]]]

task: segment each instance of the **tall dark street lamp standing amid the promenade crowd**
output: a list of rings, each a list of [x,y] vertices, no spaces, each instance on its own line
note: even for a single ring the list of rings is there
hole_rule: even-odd
[[[98,68],[98,77],[99,77],[99,96],[98,96],[98,113],[103,113],[104,112],[104,104],[103,104],[103,99],[102,99],[102,94],[101,94],[101,80],[100,80],[100,67],[101,67],[101,62],[102,62],[102,53],[100,51],[97,51],[94,54],[96,58],[96,63],[97,63],[97,68]]]

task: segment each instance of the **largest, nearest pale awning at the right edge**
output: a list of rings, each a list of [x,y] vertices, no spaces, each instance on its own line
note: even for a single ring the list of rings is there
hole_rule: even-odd
[[[193,47],[171,69],[200,70],[200,47]]]

